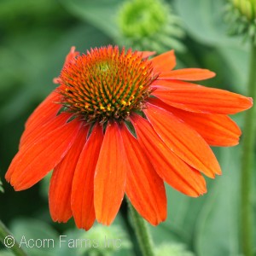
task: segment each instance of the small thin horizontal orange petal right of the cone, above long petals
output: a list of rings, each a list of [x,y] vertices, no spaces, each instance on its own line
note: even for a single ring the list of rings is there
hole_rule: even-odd
[[[202,68],[183,68],[172,70],[169,72],[162,72],[158,79],[177,79],[188,81],[199,81],[205,79],[211,79],[215,77],[215,73]]]

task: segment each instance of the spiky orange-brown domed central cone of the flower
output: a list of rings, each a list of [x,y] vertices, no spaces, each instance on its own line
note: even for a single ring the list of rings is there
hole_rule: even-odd
[[[117,46],[90,49],[62,69],[61,104],[87,122],[126,119],[142,110],[157,78],[142,53]]]

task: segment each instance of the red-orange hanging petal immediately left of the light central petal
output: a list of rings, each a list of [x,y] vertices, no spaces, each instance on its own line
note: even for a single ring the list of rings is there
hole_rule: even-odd
[[[79,229],[90,230],[95,221],[94,175],[103,140],[102,127],[96,125],[80,154],[71,195],[73,218]]]

